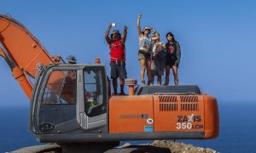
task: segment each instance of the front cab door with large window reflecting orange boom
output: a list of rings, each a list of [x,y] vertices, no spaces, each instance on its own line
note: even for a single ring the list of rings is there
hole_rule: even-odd
[[[34,133],[68,133],[79,127],[77,71],[75,65],[51,65],[39,72],[31,106]]]

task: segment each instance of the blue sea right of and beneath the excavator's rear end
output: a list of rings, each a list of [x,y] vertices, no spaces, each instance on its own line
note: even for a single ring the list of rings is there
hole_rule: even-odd
[[[256,153],[256,103],[218,103],[218,110],[220,130],[217,139],[177,139],[176,142],[211,148],[221,153]],[[143,141],[127,142],[144,143]],[[152,141],[148,141],[150,142]]]

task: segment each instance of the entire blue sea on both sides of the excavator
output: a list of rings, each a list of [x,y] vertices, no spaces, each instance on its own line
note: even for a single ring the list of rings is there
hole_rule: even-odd
[[[218,152],[256,152],[256,104],[219,103],[220,135],[218,139],[188,140],[177,142],[212,148]],[[0,107],[0,152],[17,150],[39,144],[27,131],[28,107]],[[152,141],[124,141],[131,144]]]

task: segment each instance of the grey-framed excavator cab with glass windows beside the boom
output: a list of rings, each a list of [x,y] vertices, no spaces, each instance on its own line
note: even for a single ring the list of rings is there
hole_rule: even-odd
[[[35,82],[30,129],[41,142],[58,142],[55,134],[108,132],[103,65],[48,65]]]

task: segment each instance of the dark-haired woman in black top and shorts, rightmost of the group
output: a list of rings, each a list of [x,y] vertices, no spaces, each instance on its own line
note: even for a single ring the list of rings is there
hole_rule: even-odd
[[[174,77],[174,83],[177,86],[177,68],[181,58],[181,50],[178,42],[175,40],[172,32],[166,34],[168,42],[165,44],[166,48],[166,82],[165,85],[169,84],[170,69],[172,68],[172,74]]]

